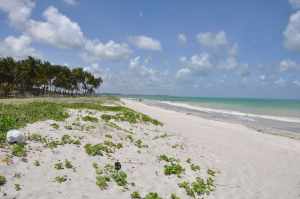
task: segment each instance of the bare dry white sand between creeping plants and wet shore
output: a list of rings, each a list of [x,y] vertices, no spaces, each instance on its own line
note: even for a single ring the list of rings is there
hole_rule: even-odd
[[[136,101],[130,108],[162,121],[184,139],[190,156],[220,171],[211,198],[300,198],[300,142],[239,124],[211,121]]]

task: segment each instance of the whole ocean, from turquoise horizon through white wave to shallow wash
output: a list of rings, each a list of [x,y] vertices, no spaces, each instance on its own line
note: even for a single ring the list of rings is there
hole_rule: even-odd
[[[240,122],[268,133],[296,133],[300,136],[300,100],[148,95],[127,97],[208,119]]]

